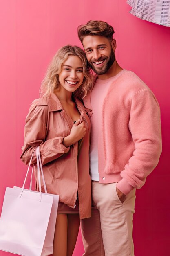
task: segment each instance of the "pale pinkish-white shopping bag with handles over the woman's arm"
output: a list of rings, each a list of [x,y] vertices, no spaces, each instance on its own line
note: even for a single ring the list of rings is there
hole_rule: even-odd
[[[7,188],[0,218],[0,250],[23,256],[47,256],[53,253],[59,196],[41,193],[39,148],[36,155],[40,192],[24,189],[26,178],[22,188]],[[29,167],[31,161],[32,157]],[[42,177],[46,192],[43,172]]]

